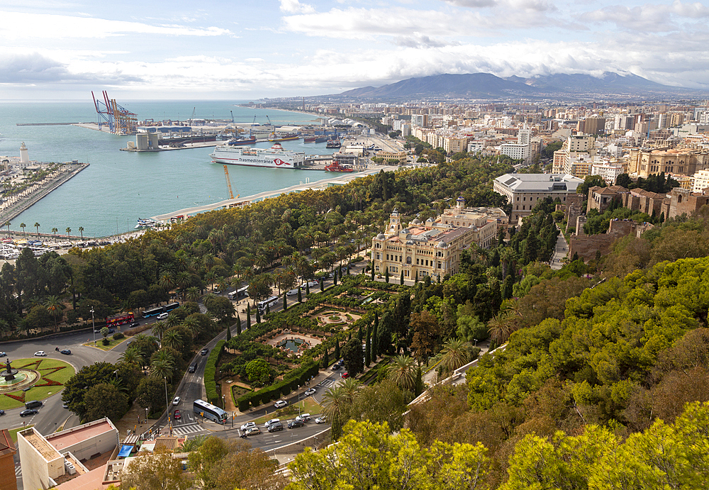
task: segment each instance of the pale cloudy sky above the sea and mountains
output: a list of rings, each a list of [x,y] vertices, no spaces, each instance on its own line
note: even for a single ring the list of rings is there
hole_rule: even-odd
[[[441,73],[709,88],[709,7],[605,0],[1,0],[0,99],[250,99]]]

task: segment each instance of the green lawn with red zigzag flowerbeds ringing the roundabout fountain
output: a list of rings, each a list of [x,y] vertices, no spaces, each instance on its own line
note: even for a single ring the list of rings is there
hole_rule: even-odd
[[[39,362],[39,364],[37,364]],[[14,368],[27,367],[38,371],[42,378],[39,379],[35,386],[28,391],[11,391],[9,393],[0,394],[0,408],[9,410],[10,408],[18,408],[25,404],[25,401],[41,400],[50,395],[64,389],[64,384],[67,380],[74,376],[74,368],[64,361],[56,359],[40,359],[30,357],[29,359],[19,359],[12,363]],[[52,386],[37,386],[38,384],[51,384]],[[55,384],[58,383],[58,384]],[[13,399],[11,396],[18,396],[21,400]],[[22,398],[24,396],[24,398]],[[23,401],[24,400],[24,401]]]

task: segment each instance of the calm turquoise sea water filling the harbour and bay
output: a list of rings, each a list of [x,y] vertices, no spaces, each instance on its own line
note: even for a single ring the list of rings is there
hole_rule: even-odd
[[[305,113],[242,107],[247,101],[118,101],[138,120],[187,121],[195,118],[221,119],[235,123],[275,126],[318,125],[320,119]],[[268,116],[268,118],[267,118]],[[0,156],[20,155],[25,143],[30,160],[90,165],[52,191],[44,199],[12,220],[11,230],[28,233],[39,223],[41,233],[57,228],[65,233],[104,237],[132,231],[138,218],[149,218],[182,208],[213,204],[228,199],[223,165],[211,162],[213,147],[164,152],[125,152],[135,136],[112,135],[77,126],[17,126],[18,123],[98,122],[94,102],[86,101],[0,101]],[[269,147],[272,143],[257,143]],[[306,155],[330,155],[325,143],[303,140],[281,142],[284,148]],[[230,165],[229,175],[236,196],[277,191],[309,179],[328,177],[320,170],[268,169]]]

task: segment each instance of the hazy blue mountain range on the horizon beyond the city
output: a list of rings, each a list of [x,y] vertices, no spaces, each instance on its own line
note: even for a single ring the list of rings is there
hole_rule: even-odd
[[[402,80],[382,87],[352,89],[338,96],[358,99],[501,99],[549,96],[686,96],[699,91],[669,87],[634,74],[605,72],[601,77],[586,74],[538,75],[530,78],[496,77],[490,73],[441,74]]]

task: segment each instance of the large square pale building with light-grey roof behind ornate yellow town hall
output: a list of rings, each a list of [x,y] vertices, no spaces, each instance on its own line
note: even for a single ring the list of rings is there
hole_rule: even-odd
[[[510,225],[515,225],[532,213],[537,201],[547,196],[558,197],[566,204],[566,196],[576,194],[576,188],[583,182],[569,174],[504,174],[493,181],[493,191],[506,196],[512,204]]]

